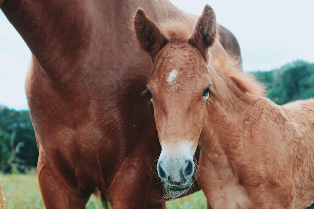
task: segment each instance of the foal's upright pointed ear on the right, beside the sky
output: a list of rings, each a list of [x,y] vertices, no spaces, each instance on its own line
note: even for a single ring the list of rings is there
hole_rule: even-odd
[[[214,43],[216,35],[216,15],[211,6],[205,5],[202,15],[197,20],[189,41],[201,51],[206,61],[208,60],[207,50]]]

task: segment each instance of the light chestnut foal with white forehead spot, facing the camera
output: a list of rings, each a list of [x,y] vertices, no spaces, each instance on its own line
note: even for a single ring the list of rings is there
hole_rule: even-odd
[[[265,98],[263,87],[219,50],[208,5],[193,31],[158,27],[142,10],[135,29],[153,60],[147,93],[162,147],[158,174],[174,197],[192,185],[199,145],[198,183],[213,209],[302,209],[314,202],[313,99],[278,106]]]

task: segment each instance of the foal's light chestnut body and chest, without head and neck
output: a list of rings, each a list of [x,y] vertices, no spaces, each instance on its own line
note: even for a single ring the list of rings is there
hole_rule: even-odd
[[[223,115],[230,117],[225,121],[211,117],[215,122],[206,122],[211,129],[204,129],[199,141],[203,150],[199,181],[211,207],[303,209],[311,205],[314,100],[282,107],[252,95],[246,100],[249,103],[233,101],[245,105],[245,110],[237,114],[231,107],[234,103],[225,104],[231,111]],[[210,105],[206,121],[217,105],[222,103]]]

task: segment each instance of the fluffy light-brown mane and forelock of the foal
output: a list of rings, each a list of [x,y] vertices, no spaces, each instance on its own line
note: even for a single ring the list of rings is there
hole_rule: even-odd
[[[171,20],[159,24],[158,27],[170,43],[184,43],[191,37],[194,25]],[[239,63],[239,60],[229,56],[223,49],[217,33],[214,44],[209,47],[208,65],[212,66],[220,76],[232,81],[241,91],[265,96],[265,87],[252,74],[243,72]]]

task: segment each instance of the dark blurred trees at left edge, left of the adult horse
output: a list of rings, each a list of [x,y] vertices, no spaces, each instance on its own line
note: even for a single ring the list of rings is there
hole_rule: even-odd
[[[0,106],[0,162],[3,173],[24,172],[37,164],[38,150],[28,111]]]

